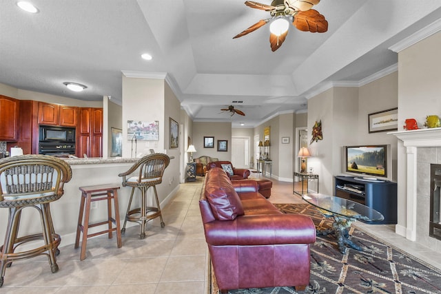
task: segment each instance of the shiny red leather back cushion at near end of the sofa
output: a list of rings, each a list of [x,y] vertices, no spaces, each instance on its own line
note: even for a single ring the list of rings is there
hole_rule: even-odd
[[[244,214],[242,202],[225,171],[216,168],[205,185],[205,198],[216,220],[234,220]]]

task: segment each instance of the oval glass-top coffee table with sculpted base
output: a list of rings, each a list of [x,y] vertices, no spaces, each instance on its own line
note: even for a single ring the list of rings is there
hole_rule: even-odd
[[[366,205],[336,196],[320,193],[307,193],[302,199],[313,205],[326,218],[334,218],[332,229],[318,230],[317,235],[334,234],[337,238],[338,250],[345,253],[346,246],[362,251],[362,248],[349,238],[349,228],[352,222],[364,220],[376,222],[384,220],[384,216]]]

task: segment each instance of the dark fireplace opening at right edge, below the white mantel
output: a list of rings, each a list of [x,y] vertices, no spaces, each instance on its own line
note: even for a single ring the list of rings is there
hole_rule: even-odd
[[[430,165],[430,221],[429,236],[441,240],[441,165]]]

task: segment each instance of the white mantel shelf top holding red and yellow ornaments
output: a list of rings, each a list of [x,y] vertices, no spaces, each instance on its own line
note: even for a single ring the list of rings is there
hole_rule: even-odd
[[[402,140],[405,147],[441,146],[441,127],[431,129],[412,129],[410,131],[389,132]]]

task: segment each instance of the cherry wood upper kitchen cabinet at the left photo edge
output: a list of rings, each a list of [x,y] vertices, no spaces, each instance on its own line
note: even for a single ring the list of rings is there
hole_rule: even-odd
[[[0,95],[0,140],[16,141],[19,100]]]

